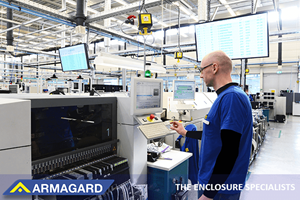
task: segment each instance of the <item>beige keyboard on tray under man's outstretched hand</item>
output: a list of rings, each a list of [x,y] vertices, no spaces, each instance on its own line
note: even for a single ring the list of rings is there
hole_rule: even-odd
[[[141,125],[138,128],[148,140],[174,134],[174,131],[170,131],[163,122]]]

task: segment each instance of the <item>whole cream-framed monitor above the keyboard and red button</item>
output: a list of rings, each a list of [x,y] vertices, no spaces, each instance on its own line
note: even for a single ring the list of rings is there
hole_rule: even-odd
[[[133,78],[130,92],[133,115],[144,115],[162,111],[163,80]]]

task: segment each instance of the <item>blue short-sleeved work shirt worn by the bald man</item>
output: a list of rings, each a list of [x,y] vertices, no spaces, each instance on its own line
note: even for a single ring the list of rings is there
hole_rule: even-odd
[[[199,159],[199,184],[207,184],[210,180],[222,148],[221,130],[227,129],[240,133],[241,138],[238,157],[224,184],[242,184],[244,186],[250,161],[253,134],[252,109],[249,97],[238,86],[229,86],[218,95],[206,120],[206,123],[203,123]],[[219,191],[223,194],[237,192],[240,191]]]

